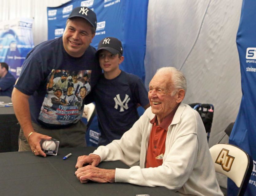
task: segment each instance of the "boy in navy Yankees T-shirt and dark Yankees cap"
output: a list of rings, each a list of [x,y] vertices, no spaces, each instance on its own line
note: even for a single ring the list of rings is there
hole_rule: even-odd
[[[144,109],[149,107],[148,93],[142,80],[119,69],[124,60],[122,54],[122,43],[118,39],[107,37],[99,42],[96,55],[104,73],[92,90],[90,99],[90,102],[95,102],[98,115],[101,133],[98,145],[120,139],[133,126],[139,119],[138,104]]]

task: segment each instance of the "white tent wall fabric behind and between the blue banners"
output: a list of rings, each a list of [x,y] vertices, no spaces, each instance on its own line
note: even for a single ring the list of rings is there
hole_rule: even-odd
[[[67,0],[0,0],[0,21],[34,18],[34,44],[47,40],[47,6]],[[184,103],[215,107],[209,146],[234,122],[242,97],[236,33],[242,0],[149,0],[145,85],[174,66],[187,77]],[[222,142],[228,142],[225,137]],[[225,187],[225,183],[220,183]]]

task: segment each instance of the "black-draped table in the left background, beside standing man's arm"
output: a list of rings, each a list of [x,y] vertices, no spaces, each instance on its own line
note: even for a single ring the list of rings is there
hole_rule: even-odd
[[[12,102],[8,96],[0,96],[0,101]],[[20,125],[17,123],[18,120],[12,106],[0,107],[0,153],[18,150]]]

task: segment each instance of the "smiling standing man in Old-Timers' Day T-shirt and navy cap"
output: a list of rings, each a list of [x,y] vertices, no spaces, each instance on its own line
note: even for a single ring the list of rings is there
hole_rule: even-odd
[[[60,141],[59,147],[86,146],[86,126],[81,121],[83,110],[62,105],[54,110],[43,102],[48,96],[47,84],[57,77],[52,76],[55,72],[65,70],[70,76],[73,71],[83,75],[89,70],[90,85],[95,86],[102,73],[95,58],[96,50],[90,46],[96,27],[96,14],[87,7],[76,7],[67,19],[63,36],[37,45],[27,55],[12,94],[14,111],[21,125],[19,151],[46,156],[40,141],[51,138]],[[80,81],[84,82],[82,77]]]

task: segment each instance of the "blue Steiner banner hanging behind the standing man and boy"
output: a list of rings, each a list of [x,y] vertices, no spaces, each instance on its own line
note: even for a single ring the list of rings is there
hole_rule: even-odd
[[[97,29],[91,45],[97,49],[103,38],[118,38],[125,57],[120,69],[138,75],[145,81],[148,0],[72,0],[58,7],[48,7],[48,40],[62,36],[69,14],[78,6],[88,7],[97,15]],[[87,130],[87,145],[97,146],[97,124],[95,116]]]

